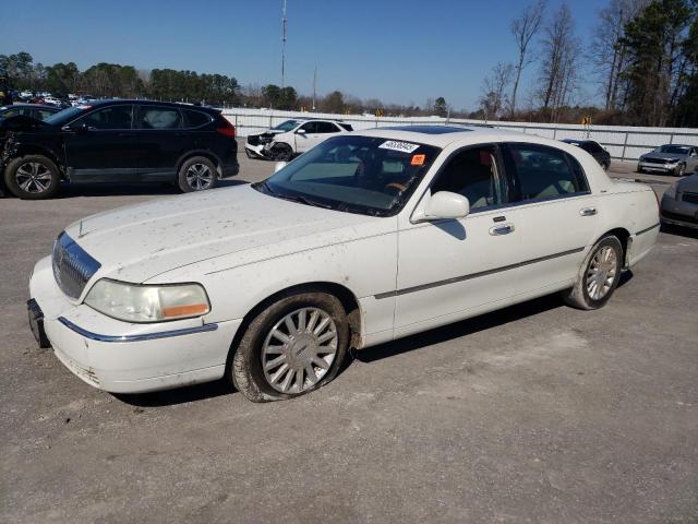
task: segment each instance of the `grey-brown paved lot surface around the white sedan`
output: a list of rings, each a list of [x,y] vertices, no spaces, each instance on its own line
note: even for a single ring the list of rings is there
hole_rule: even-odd
[[[273,169],[241,164],[226,183]],[[116,397],[37,348],[28,275],[68,223],[173,192],[0,200],[0,522],[698,522],[697,235],[662,233],[603,310],[546,297],[366,349],[292,402]]]

